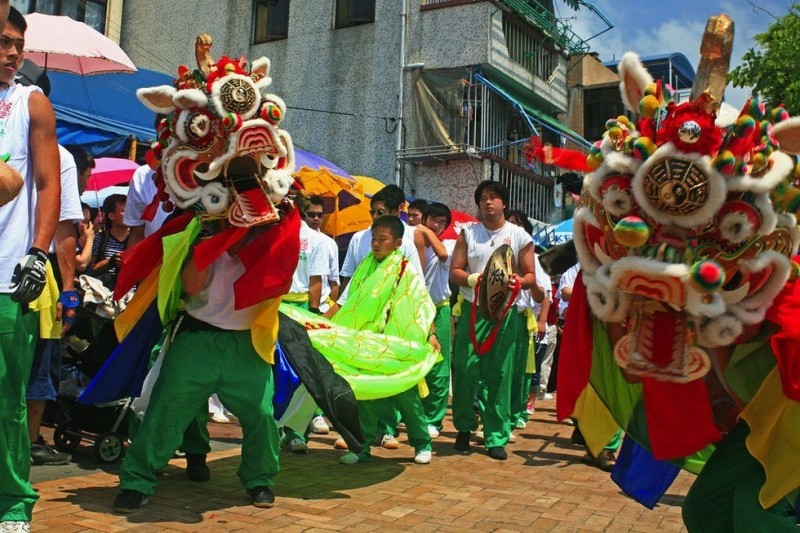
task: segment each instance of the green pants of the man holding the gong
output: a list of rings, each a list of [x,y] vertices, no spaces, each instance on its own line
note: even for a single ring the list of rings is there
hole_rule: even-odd
[[[478,428],[473,404],[484,388],[485,403],[481,406],[484,442],[487,448],[505,446],[511,419],[511,377],[516,354],[517,335],[514,313],[503,320],[492,348],[478,356],[472,346],[470,321],[472,308],[464,302],[463,313],[456,326],[453,343],[453,423],[458,431]],[[487,338],[496,322],[480,315],[475,321],[478,342]]]

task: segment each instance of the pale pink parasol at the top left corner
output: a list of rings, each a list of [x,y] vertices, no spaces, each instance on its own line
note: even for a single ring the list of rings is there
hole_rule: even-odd
[[[136,72],[136,66],[114,41],[69,17],[25,15],[25,57],[45,70],[88,75]]]

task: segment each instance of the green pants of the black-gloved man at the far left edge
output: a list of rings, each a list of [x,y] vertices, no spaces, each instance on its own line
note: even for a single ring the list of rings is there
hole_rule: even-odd
[[[28,482],[31,443],[25,388],[31,374],[39,315],[23,315],[10,294],[0,294],[0,522],[30,521],[39,495]]]

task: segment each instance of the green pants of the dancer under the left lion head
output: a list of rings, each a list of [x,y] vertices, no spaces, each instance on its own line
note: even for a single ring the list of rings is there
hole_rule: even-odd
[[[272,486],[280,439],[273,418],[272,367],[250,331],[184,331],[170,347],[139,434],[120,469],[120,486],[152,494],[197,407],[213,393],[239,419],[244,435],[237,472],[246,489]]]

